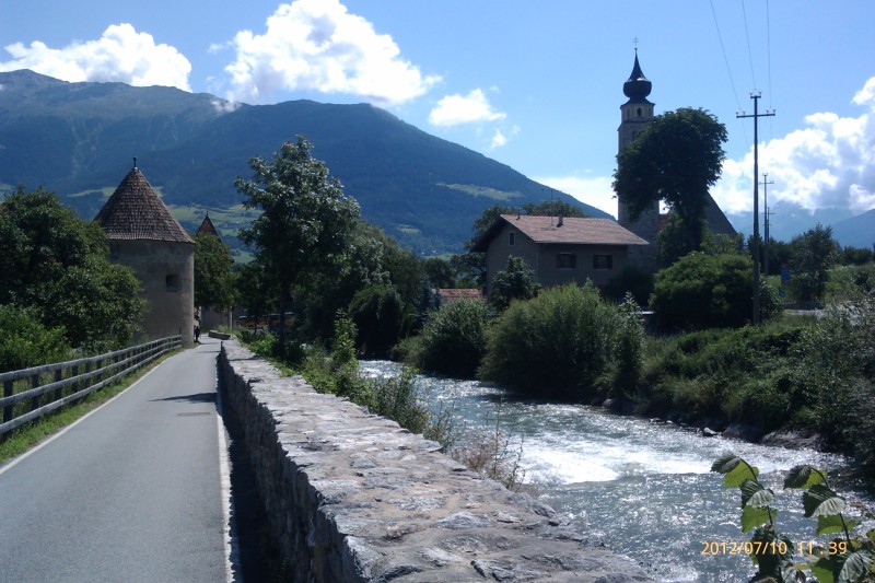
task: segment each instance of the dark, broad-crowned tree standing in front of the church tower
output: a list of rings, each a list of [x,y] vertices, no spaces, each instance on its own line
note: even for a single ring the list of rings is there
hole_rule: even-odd
[[[687,231],[688,250],[702,242],[708,189],[720,177],[726,127],[703,109],[682,107],[654,117],[617,155],[614,190],[632,220],[664,201]]]

